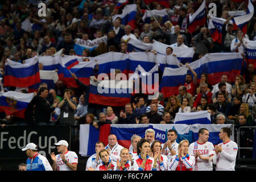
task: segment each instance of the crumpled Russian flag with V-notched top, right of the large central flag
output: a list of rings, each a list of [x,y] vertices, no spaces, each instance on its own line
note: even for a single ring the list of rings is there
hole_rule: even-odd
[[[141,65],[138,65],[135,72],[138,72],[141,78],[142,93],[155,94],[159,90],[159,77],[158,74],[159,65],[156,64],[150,71],[146,72]],[[139,81],[139,80],[137,80]]]

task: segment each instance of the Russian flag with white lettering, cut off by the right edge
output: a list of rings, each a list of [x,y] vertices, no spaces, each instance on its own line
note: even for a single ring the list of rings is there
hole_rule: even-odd
[[[254,68],[256,68],[256,41],[247,40],[245,57],[247,65],[253,64]]]

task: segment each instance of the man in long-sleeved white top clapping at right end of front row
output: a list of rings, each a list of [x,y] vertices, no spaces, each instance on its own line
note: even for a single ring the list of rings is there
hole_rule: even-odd
[[[229,139],[230,134],[229,127],[223,127],[218,134],[223,142],[215,146],[213,163],[216,164],[216,171],[234,171],[236,166],[237,143]]]

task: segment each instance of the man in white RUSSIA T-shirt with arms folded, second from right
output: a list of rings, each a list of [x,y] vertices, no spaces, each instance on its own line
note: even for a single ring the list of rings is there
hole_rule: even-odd
[[[209,131],[205,128],[199,130],[199,138],[188,147],[188,154],[195,156],[196,164],[193,171],[212,171],[212,158],[215,154],[214,146],[208,142]],[[209,163],[210,161],[210,163]]]

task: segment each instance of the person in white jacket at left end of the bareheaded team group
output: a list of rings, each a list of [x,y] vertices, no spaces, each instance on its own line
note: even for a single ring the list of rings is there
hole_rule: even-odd
[[[96,169],[97,165],[102,162],[100,158],[100,151],[105,148],[105,144],[103,142],[96,142],[95,144],[95,151],[96,154],[93,154],[90,156],[86,162],[86,168],[85,171],[89,171],[87,168],[94,168]]]

